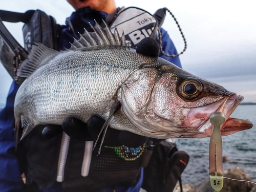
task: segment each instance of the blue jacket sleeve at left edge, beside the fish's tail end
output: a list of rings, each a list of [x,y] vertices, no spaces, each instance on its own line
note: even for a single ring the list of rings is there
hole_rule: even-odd
[[[7,104],[0,111],[0,192],[23,191],[24,184],[14,148],[13,104],[18,87],[18,84],[12,83]]]

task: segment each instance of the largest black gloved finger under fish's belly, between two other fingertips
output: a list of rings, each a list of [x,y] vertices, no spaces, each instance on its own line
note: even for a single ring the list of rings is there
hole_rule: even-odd
[[[93,140],[93,137],[87,129],[87,124],[73,117],[68,117],[62,121],[62,130],[76,141]]]

